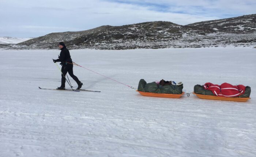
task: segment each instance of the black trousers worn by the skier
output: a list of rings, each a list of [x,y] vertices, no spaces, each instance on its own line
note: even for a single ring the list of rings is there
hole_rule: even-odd
[[[68,73],[78,85],[81,84],[81,82],[78,80],[78,78],[73,74],[73,64],[64,64],[61,67],[61,87],[65,87],[65,82],[66,82],[66,74]]]

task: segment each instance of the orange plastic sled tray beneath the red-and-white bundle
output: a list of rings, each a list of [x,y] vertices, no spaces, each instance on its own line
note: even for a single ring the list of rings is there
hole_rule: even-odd
[[[200,99],[210,99],[210,100],[225,100],[233,102],[246,102],[249,97],[221,97],[221,96],[212,96],[212,95],[201,95],[193,92],[194,95],[198,96]]]

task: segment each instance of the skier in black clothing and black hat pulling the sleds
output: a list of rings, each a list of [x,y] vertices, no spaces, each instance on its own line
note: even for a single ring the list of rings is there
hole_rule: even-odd
[[[82,87],[83,83],[81,81],[79,81],[78,78],[73,74],[73,64],[69,64],[69,63],[73,63],[73,62],[72,62],[70,53],[69,53],[67,47],[65,46],[64,42],[59,42],[59,48],[61,49],[59,59],[53,60],[54,63],[61,62],[61,65],[62,65],[62,67],[61,67],[61,86],[56,89],[65,89],[65,82],[66,82],[65,76],[66,76],[67,72],[78,84],[77,89],[80,89]]]

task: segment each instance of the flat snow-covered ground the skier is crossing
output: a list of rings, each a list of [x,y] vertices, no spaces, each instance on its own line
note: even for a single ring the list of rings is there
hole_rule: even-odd
[[[79,66],[82,88],[100,93],[38,89],[60,86],[59,52],[0,51],[0,157],[256,156],[256,49],[70,51],[77,64],[135,88],[141,78],[182,81],[187,93],[206,82],[248,85],[245,103],[145,97]]]

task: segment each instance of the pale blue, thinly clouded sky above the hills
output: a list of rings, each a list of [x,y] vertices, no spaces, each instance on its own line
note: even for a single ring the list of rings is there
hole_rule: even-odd
[[[256,14],[256,0],[0,0],[0,37],[39,37],[102,25],[186,25]]]

